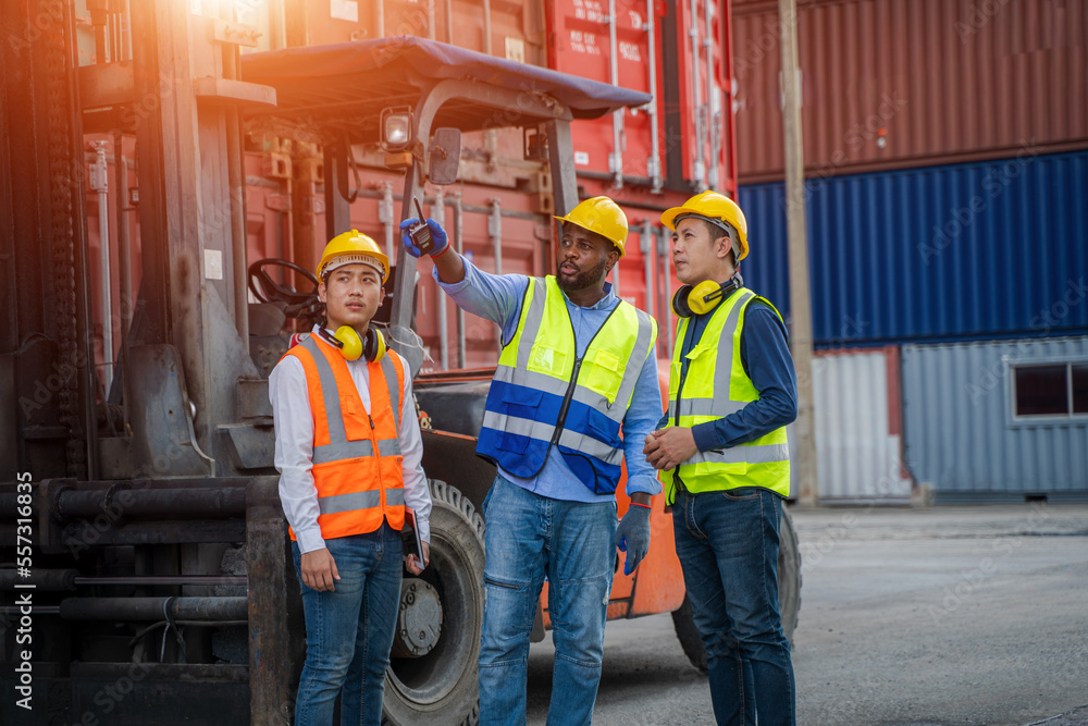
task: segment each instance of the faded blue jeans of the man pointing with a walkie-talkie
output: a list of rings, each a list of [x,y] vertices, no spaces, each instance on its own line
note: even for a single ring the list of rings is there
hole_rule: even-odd
[[[616,502],[534,494],[496,477],[487,519],[480,724],[524,724],[529,633],[544,576],[555,642],[548,724],[589,724],[616,567]]]

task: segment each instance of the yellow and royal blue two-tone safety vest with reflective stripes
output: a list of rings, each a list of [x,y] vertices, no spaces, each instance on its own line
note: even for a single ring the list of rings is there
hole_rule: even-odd
[[[616,491],[620,426],[657,323],[622,300],[577,357],[566,296],[554,276],[532,278],[521,318],[487,392],[477,452],[517,477],[532,477],[558,446],[591,491]]]

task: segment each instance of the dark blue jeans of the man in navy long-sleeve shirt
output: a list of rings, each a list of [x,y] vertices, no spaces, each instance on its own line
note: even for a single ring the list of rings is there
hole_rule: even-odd
[[[677,555],[706,649],[719,724],[796,723],[790,643],[778,611],[782,500],[743,488],[692,495],[672,508]]]

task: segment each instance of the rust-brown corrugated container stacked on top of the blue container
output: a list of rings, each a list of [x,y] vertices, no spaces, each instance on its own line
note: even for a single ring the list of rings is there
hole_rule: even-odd
[[[733,2],[741,183],[782,179],[777,2]],[[808,174],[1088,146],[1088,0],[800,0]]]

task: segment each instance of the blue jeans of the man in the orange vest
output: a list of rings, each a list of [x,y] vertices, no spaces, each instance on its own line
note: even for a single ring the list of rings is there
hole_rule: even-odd
[[[341,579],[335,590],[318,592],[302,585],[298,544],[290,545],[306,617],[295,724],[332,724],[343,687],[341,724],[379,726],[400,605],[400,533],[382,522],[374,532],[325,540],[325,546]]]

